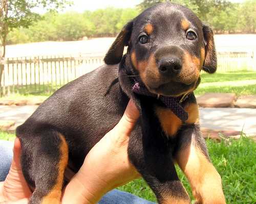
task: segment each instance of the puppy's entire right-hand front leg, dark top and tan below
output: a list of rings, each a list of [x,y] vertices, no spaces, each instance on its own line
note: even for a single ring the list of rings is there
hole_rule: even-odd
[[[185,127],[179,134],[179,143],[176,160],[193,189],[196,203],[226,203],[221,176],[209,160],[199,126]]]

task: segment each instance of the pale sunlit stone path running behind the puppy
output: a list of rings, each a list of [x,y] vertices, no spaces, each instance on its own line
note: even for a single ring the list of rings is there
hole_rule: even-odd
[[[0,106],[0,121],[15,122],[10,131],[22,124],[37,106]],[[200,122],[205,137],[221,132],[224,135],[256,136],[256,109],[245,108],[200,108]]]

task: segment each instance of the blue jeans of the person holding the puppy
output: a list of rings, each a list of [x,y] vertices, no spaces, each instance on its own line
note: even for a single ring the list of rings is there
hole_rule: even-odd
[[[0,182],[4,181],[11,165],[13,157],[13,142],[0,140]],[[131,193],[112,190],[105,194],[99,201],[99,204],[155,204],[154,202],[144,200]]]

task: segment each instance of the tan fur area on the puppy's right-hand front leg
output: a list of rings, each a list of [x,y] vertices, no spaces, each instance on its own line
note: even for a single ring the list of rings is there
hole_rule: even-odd
[[[221,177],[195,141],[178,152],[176,161],[193,189],[196,203],[226,203]]]

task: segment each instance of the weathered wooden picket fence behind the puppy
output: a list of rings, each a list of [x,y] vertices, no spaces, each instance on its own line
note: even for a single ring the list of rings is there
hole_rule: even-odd
[[[0,84],[0,97],[11,93],[51,93],[102,65],[103,56],[7,58],[0,61],[1,64],[4,72]],[[256,71],[255,66],[253,53],[218,53],[218,72],[241,69]]]

